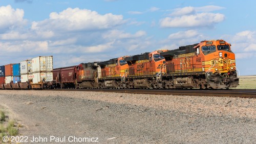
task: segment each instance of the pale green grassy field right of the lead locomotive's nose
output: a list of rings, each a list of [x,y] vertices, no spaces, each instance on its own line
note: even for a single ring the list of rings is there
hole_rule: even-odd
[[[240,76],[236,89],[256,89],[256,76]]]

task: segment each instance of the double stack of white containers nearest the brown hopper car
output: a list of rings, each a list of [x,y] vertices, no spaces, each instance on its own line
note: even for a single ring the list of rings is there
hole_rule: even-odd
[[[53,81],[53,57],[39,56],[32,58],[33,83]]]

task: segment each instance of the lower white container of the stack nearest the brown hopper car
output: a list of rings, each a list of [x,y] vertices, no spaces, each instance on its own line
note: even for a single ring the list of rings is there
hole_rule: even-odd
[[[45,79],[45,82],[53,81],[53,73],[52,72],[38,72],[32,74],[33,83],[38,83]]]

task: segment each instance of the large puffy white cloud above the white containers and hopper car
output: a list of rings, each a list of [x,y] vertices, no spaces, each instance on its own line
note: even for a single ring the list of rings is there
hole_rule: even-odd
[[[60,13],[52,12],[49,19],[32,23],[33,30],[91,31],[110,29],[123,24],[122,15],[101,15],[96,11],[68,8]]]

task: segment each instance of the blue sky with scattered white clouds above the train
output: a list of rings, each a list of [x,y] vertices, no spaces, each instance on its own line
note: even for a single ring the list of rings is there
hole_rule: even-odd
[[[256,75],[256,1],[0,0],[0,65],[53,56],[54,68],[202,40],[231,43]]]

